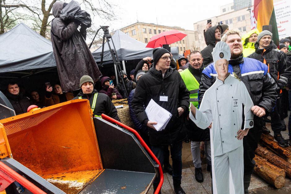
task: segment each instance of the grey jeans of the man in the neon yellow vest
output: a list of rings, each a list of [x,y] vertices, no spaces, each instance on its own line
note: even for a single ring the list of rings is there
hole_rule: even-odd
[[[211,165],[210,141],[204,141],[204,152],[206,155],[207,164]],[[191,153],[195,168],[201,168],[200,141],[191,141]]]

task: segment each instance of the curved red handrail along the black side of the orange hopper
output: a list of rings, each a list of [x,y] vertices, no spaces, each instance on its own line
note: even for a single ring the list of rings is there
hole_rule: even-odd
[[[160,182],[159,185],[156,189],[156,191],[154,192],[154,194],[158,194],[162,188],[163,182],[164,182],[164,174],[163,174],[163,169],[161,166],[161,163],[159,162],[158,158],[154,155],[154,153],[152,152],[152,150],[149,148],[149,146],[145,143],[145,141],[141,138],[141,136],[139,135],[139,133],[132,129],[131,127],[128,127],[127,125],[124,125],[123,123],[120,123],[119,121],[112,119],[111,117],[107,116],[106,114],[102,114],[102,119],[109,121],[111,123],[116,123],[121,127],[126,128],[128,131],[131,131],[138,140],[141,141],[141,145],[145,148],[145,150],[150,154],[151,157],[153,157],[154,161],[159,165],[159,174],[160,174]]]

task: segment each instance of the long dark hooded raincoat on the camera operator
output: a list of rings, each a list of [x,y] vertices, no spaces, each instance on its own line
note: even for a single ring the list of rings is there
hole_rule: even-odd
[[[55,2],[52,7],[55,19],[51,23],[50,36],[60,84],[67,92],[80,88],[82,75],[89,75],[96,82],[102,74],[85,41],[86,29],[80,28],[78,31],[75,21],[59,18],[63,6],[64,2]]]

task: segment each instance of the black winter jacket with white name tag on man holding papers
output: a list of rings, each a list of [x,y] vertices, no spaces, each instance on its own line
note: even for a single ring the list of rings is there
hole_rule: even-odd
[[[159,101],[160,96],[167,96],[168,101]],[[150,144],[171,145],[186,137],[184,115],[188,115],[189,91],[183,82],[178,71],[168,69],[164,77],[162,71],[152,67],[148,73],[143,75],[137,83],[137,88],[132,100],[132,108],[137,118],[142,124],[149,121],[144,106],[148,106],[153,99],[159,106],[168,110],[172,118],[162,131],[149,128]],[[182,107],[185,112],[179,117],[178,107]]]

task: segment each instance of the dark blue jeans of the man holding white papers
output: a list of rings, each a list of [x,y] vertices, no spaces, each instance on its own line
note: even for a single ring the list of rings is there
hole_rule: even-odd
[[[152,145],[152,151],[158,158],[161,166],[163,166],[165,159],[165,147],[168,145]],[[182,141],[174,143],[170,146],[171,158],[173,164],[173,180],[180,181],[182,179]],[[157,186],[160,181],[160,175],[154,179],[153,185]]]

